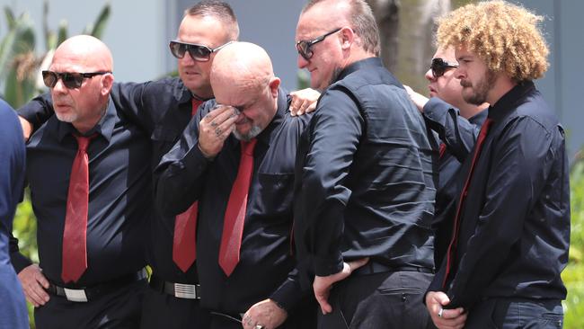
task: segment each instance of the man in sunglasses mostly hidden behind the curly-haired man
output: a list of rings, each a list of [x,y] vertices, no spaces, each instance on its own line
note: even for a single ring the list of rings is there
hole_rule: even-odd
[[[449,111],[450,115],[461,119],[461,127],[466,127],[471,134],[478,134],[482,122],[487,118],[488,103],[474,105],[463,99],[463,86],[456,77],[455,49],[452,47],[438,48],[432,58],[428,80],[429,99],[406,86],[411,100],[418,110],[422,111],[429,125],[436,113]],[[461,131],[464,133],[465,131]],[[456,213],[456,198],[460,195],[458,187],[458,172],[461,160],[456,157],[456,149],[448,149],[446,143],[440,143],[438,158],[438,190],[436,192],[436,210],[432,227],[434,228],[434,262],[440,267],[452,237],[453,219]],[[472,145],[467,147],[473,147]]]

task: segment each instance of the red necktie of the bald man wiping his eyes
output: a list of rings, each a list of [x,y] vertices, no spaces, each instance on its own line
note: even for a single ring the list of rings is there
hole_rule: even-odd
[[[242,141],[242,156],[234,186],[229,194],[226,215],[223,222],[223,235],[219,248],[219,266],[229,276],[239,262],[239,249],[242,246],[243,222],[247,208],[247,195],[250,190],[253,172],[253,147],[257,139]]]

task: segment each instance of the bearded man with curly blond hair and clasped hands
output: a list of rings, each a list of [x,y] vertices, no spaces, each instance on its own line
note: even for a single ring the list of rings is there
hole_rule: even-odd
[[[439,22],[463,98],[491,106],[476,139],[446,111],[430,125],[449,148],[467,150],[452,239],[425,298],[438,328],[562,327],[569,172],[564,130],[533,83],[548,67],[541,21],[492,1]]]

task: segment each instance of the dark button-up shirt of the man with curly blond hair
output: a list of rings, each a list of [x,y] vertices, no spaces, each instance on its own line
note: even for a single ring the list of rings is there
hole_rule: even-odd
[[[447,134],[460,123],[435,118],[437,124],[448,121]],[[560,273],[570,244],[563,128],[532,82],[518,84],[491,105],[489,118],[493,124],[462,209],[448,307],[470,309],[491,297],[563,299]],[[471,162],[469,153],[464,177]],[[443,262],[429,290],[442,289],[445,270]]]

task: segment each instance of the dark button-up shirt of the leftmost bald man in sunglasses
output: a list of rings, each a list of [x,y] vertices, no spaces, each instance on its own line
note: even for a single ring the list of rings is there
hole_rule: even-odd
[[[60,285],[67,190],[77,152],[75,133],[73,125],[53,116],[27,145],[26,174],[38,223],[40,267]],[[70,287],[91,287],[146,265],[144,236],[152,212],[149,140],[111,101],[86,136],[93,133],[98,136],[87,149],[88,268],[80,280],[66,285]],[[16,255],[14,259],[16,271],[30,264]]]

